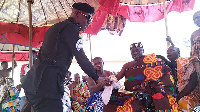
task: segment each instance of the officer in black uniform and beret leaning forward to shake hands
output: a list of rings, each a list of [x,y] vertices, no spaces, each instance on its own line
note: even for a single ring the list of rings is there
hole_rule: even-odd
[[[84,31],[92,20],[94,8],[74,3],[71,16],[50,27],[45,34],[37,62],[28,72],[22,87],[36,112],[62,112],[64,78],[75,56],[81,69],[97,83],[103,80],[82,48]]]

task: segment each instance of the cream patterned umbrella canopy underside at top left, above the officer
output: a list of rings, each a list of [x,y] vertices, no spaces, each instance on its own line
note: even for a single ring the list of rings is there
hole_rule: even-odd
[[[30,1],[30,0],[29,0]],[[34,0],[31,6],[33,27],[55,24],[70,16],[74,2],[84,0]],[[98,1],[87,0],[98,8]],[[27,0],[0,0],[0,20],[29,26]]]

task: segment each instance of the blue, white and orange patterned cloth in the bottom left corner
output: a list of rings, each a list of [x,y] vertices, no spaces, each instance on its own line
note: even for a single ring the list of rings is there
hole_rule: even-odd
[[[9,90],[10,98],[3,103],[2,112],[20,112],[19,91],[12,87]]]

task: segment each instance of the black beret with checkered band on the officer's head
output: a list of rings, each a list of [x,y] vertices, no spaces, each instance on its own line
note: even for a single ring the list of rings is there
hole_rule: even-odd
[[[93,14],[94,13],[94,8],[91,7],[89,4],[87,3],[74,3],[72,5],[73,8],[77,9],[77,10],[80,10],[80,11],[83,11],[83,12],[86,12],[86,13],[90,13],[90,14]]]

